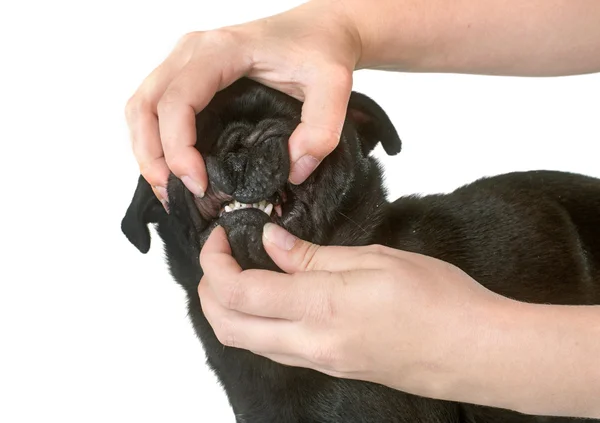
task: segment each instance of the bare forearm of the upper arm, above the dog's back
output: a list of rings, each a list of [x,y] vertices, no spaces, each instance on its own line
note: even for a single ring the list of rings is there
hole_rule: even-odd
[[[600,71],[598,0],[341,0],[357,68],[554,76]]]

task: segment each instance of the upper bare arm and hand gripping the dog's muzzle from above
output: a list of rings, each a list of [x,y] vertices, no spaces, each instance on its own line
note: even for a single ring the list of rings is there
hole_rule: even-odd
[[[248,76],[304,101],[290,138],[303,182],[339,141],[355,69],[494,75],[600,70],[597,0],[312,0],[252,22],[186,34],[126,115],[140,171],[166,202],[169,172],[202,196],[194,117]]]

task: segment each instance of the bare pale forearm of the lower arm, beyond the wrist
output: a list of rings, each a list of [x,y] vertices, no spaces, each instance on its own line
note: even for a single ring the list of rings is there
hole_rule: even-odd
[[[600,306],[500,303],[455,352],[460,359],[442,395],[526,414],[600,418]]]

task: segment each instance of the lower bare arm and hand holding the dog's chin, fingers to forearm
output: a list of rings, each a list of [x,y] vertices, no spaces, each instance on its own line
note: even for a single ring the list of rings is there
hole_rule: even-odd
[[[202,250],[202,308],[225,345],[430,398],[600,418],[599,306],[514,301],[380,246],[320,247],[276,226],[263,241],[287,274],[242,272],[220,228]]]

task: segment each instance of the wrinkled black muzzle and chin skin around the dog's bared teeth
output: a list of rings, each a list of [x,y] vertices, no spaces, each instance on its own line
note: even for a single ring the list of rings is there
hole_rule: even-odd
[[[242,268],[277,270],[262,245],[262,229],[273,221],[300,213],[285,210],[282,216],[267,215],[258,208],[223,213],[224,205],[238,201],[252,204],[285,197],[290,171],[287,139],[289,121],[269,119],[257,125],[242,122],[227,126],[213,143],[205,162],[209,187],[203,198],[193,196],[175,176],[168,184],[170,208],[189,230],[190,243],[200,248],[215,228],[225,229],[234,258]],[[201,134],[198,134],[201,136]],[[200,138],[201,139],[201,138]]]

